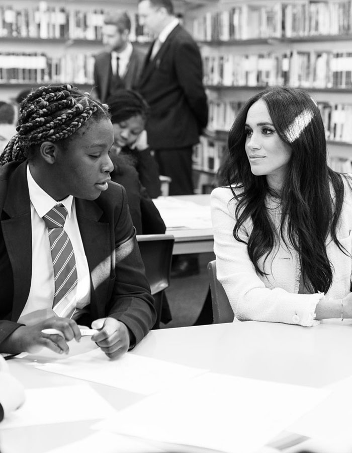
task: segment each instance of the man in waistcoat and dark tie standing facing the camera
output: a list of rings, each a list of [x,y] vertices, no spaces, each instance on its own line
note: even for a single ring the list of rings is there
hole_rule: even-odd
[[[101,102],[107,102],[121,88],[136,88],[144,54],[130,43],[130,31],[131,20],[127,13],[105,16],[103,42],[107,51],[96,55],[94,66],[94,83]]]

